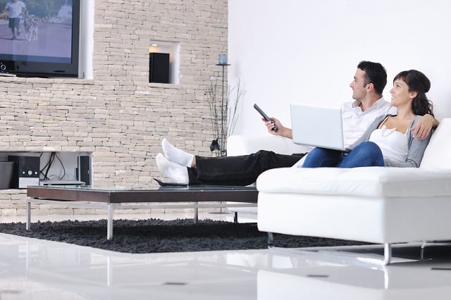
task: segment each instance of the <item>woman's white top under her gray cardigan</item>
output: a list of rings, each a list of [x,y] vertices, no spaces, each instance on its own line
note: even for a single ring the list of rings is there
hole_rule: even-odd
[[[407,131],[406,131],[407,132]],[[383,158],[393,161],[406,161],[409,154],[406,132],[402,134],[396,128],[388,129],[385,125],[371,132],[369,140],[381,148]]]

